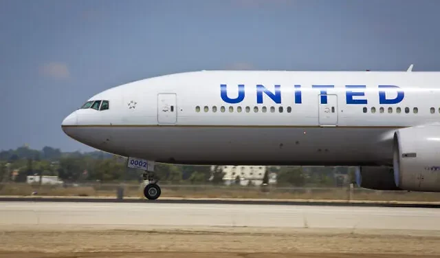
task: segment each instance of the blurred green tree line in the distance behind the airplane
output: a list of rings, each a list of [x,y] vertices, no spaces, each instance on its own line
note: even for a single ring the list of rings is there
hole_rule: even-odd
[[[18,171],[14,177],[13,171]],[[155,172],[161,182],[170,184],[223,184],[224,181],[221,166],[211,169],[211,166],[156,164]],[[263,182],[268,182],[268,173],[276,173],[278,186],[336,186],[341,184],[336,173],[353,178],[353,169],[349,167],[268,166],[266,172]],[[142,171],[126,168],[126,158],[102,151],[63,152],[52,147],[0,151],[0,182],[25,182],[28,175],[54,175],[64,182],[76,183],[142,180]],[[237,175],[232,184],[239,182]]]

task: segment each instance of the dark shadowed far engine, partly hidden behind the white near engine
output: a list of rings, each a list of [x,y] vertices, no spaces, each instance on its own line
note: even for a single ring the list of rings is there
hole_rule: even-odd
[[[394,171],[390,166],[360,166],[355,171],[359,187],[381,191],[399,191],[394,182]]]

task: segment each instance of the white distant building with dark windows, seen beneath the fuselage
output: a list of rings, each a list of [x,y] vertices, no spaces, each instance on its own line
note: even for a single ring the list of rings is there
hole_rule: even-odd
[[[211,170],[214,166],[211,166]],[[220,166],[219,169],[225,173],[223,181],[226,185],[239,182],[242,186],[253,184],[259,186],[263,184],[264,174],[267,166]],[[276,184],[276,173],[269,173],[269,184]]]

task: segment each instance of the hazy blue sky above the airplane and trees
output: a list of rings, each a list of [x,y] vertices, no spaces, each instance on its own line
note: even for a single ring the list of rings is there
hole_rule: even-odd
[[[440,71],[438,0],[0,0],[0,150],[91,151],[104,89],[202,69]]]

